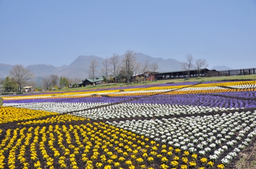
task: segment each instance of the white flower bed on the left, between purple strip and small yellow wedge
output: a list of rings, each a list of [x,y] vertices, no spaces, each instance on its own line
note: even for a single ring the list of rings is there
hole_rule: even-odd
[[[14,106],[14,107],[22,107],[29,108],[35,110],[45,110],[52,112],[70,112],[70,111],[78,111],[88,108],[93,108],[100,105],[107,105],[107,102],[33,102],[33,103],[4,103],[4,106]]]

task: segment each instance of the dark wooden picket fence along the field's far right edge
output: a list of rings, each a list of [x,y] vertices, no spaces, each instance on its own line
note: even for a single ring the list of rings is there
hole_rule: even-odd
[[[208,71],[207,76],[231,76],[231,75],[247,75],[256,74],[256,68],[242,68],[232,70]]]

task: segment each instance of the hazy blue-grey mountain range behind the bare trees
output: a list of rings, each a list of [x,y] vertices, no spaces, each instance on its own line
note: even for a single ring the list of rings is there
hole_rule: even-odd
[[[120,60],[123,57],[124,55],[121,55]],[[157,71],[174,71],[180,70],[181,67],[181,62],[172,58],[156,58],[143,53],[137,53],[136,57],[137,60],[140,62],[144,62],[146,59],[150,60],[149,63],[158,62],[159,69]],[[71,64],[62,65],[60,67],[47,64],[33,64],[28,65],[26,68],[30,69],[35,74],[35,77],[37,77],[36,81],[38,83],[42,80],[43,77],[50,74],[58,74],[59,76],[66,76],[68,78],[84,79],[88,77],[88,68],[91,61],[94,59],[99,62],[97,69],[99,71],[98,74],[100,74],[100,68],[103,58],[95,55],[80,55]],[[0,63],[0,77],[5,78],[9,74],[9,71],[12,69],[12,67],[13,65]]]

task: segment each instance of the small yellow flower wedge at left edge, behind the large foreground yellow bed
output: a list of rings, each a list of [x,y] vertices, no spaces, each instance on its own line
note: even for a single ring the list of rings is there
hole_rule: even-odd
[[[56,114],[59,114],[59,113],[43,111],[43,110],[32,110],[27,108],[0,106],[0,123],[35,119],[35,118],[40,118],[47,115],[56,115]]]

